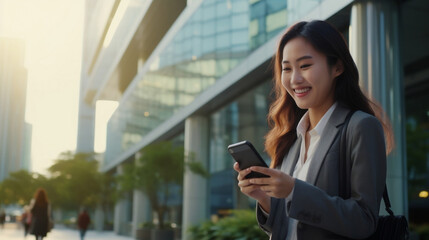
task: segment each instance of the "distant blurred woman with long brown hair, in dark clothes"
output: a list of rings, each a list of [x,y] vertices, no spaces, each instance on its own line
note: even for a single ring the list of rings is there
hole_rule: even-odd
[[[36,236],[36,240],[42,240],[49,232],[50,207],[46,191],[37,189],[31,201],[31,225],[30,233]]]

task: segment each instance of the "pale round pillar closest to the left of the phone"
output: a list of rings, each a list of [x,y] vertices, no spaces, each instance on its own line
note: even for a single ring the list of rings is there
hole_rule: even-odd
[[[194,116],[185,121],[185,153],[208,169],[208,119]],[[187,159],[186,161],[189,161]],[[182,239],[189,239],[187,229],[208,217],[207,179],[185,171],[183,180]]]

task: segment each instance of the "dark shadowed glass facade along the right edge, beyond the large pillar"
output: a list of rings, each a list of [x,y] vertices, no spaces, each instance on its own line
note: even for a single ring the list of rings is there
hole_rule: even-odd
[[[411,0],[400,8],[409,221],[421,239],[426,239],[424,228],[417,226],[429,223],[429,49],[420,47],[429,41],[427,6],[427,1]]]

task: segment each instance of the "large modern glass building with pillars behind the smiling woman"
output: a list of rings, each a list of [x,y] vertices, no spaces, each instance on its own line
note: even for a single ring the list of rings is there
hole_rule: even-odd
[[[226,147],[246,139],[263,152],[276,43],[291,24],[323,19],[343,32],[362,88],[390,118],[392,206],[420,224],[429,211],[428,7],[425,0],[88,1],[77,150],[92,151],[95,103],[115,100],[102,171],[121,174],[140,149],[174,140],[210,177],[185,173],[183,192],[169,200],[171,222],[187,229],[253,208],[236,187]],[[151,210],[134,191],[114,216],[118,234],[134,235]]]

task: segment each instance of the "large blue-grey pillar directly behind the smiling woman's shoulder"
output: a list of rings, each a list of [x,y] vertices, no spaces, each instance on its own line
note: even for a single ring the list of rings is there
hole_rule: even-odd
[[[387,160],[387,187],[392,208],[408,214],[405,110],[399,55],[398,6],[394,1],[356,1],[350,21],[350,50],[361,86],[381,104],[395,136]]]

